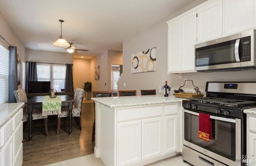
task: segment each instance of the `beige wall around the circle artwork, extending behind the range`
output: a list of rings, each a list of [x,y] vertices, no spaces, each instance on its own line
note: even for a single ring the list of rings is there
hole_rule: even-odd
[[[166,21],[202,4],[206,0],[197,0],[192,4],[178,10],[178,12],[161,20],[144,31],[131,36],[123,42],[123,77],[118,85],[118,90],[137,90],[140,95],[141,89],[156,89],[164,85],[167,80],[172,89],[178,89],[184,83],[184,78],[194,80],[194,84],[200,90],[205,90],[206,81],[256,81],[256,70],[240,72],[213,72],[213,73],[184,73],[182,79],[178,74],[167,74],[167,30]],[[156,71],[131,74],[131,55],[144,49],[156,47]],[[124,86],[124,82],[126,86]],[[194,90],[188,83],[184,90]]]

